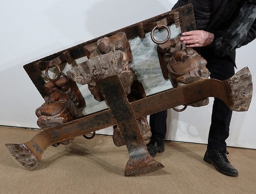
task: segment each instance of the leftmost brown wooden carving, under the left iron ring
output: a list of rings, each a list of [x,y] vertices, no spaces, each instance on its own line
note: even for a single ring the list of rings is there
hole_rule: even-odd
[[[45,103],[35,111],[38,117],[37,125],[41,129],[59,126],[78,118],[77,108],[80,106],[80,101],[68,83],[67,77],[61,77],[58,81],[45,84],[45,90],[49,95],[45,96]],[[53,146],[66,145],[73,140],[74,138],[61,141]]]

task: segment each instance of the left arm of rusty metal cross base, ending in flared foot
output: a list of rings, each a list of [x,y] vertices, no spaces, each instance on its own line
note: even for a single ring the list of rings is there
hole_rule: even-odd
[[[52,144],[88,134],[114,124],[111,114],[108,110],[105,110],[64,123],[61,126],[40,131],[30,141],[23,144],[6,144],[6,146],[22,166],[29,170],[34,170],[40,164],[44,151]],[[26,147],[25,150],[24,147]]]

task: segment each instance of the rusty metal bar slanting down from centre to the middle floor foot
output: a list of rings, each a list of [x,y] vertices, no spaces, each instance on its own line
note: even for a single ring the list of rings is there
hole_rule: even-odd
[[[109,112],[119,127],[129,153],[125,167],[125,176],[147,174],[164,167],[155,161],[147,151],[140,128],[135,119],[132,107],[128,102],[118,76],[111,76],[97,81],[101,88]]]

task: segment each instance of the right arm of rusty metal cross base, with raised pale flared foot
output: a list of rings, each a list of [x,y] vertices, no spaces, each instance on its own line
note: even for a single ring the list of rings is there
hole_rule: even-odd
[[[252,78],[248,67],[244,67],[229,80],[206,79],[171,89],[132,103],[135,117],[149,115],[179,105],[216,97],[233,111],[247,111],[252,98]],[[153,108],[154,107],[154,108]],[[153,111],[154,109],[154,111]]]

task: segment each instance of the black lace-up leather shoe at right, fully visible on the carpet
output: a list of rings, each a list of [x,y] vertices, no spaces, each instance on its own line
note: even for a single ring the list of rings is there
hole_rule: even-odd
[[[229,154],[227,150],[206,150],[203,160],[213,164],[222,174],[238,176],[238,171],[230,164],[226,154]]]

